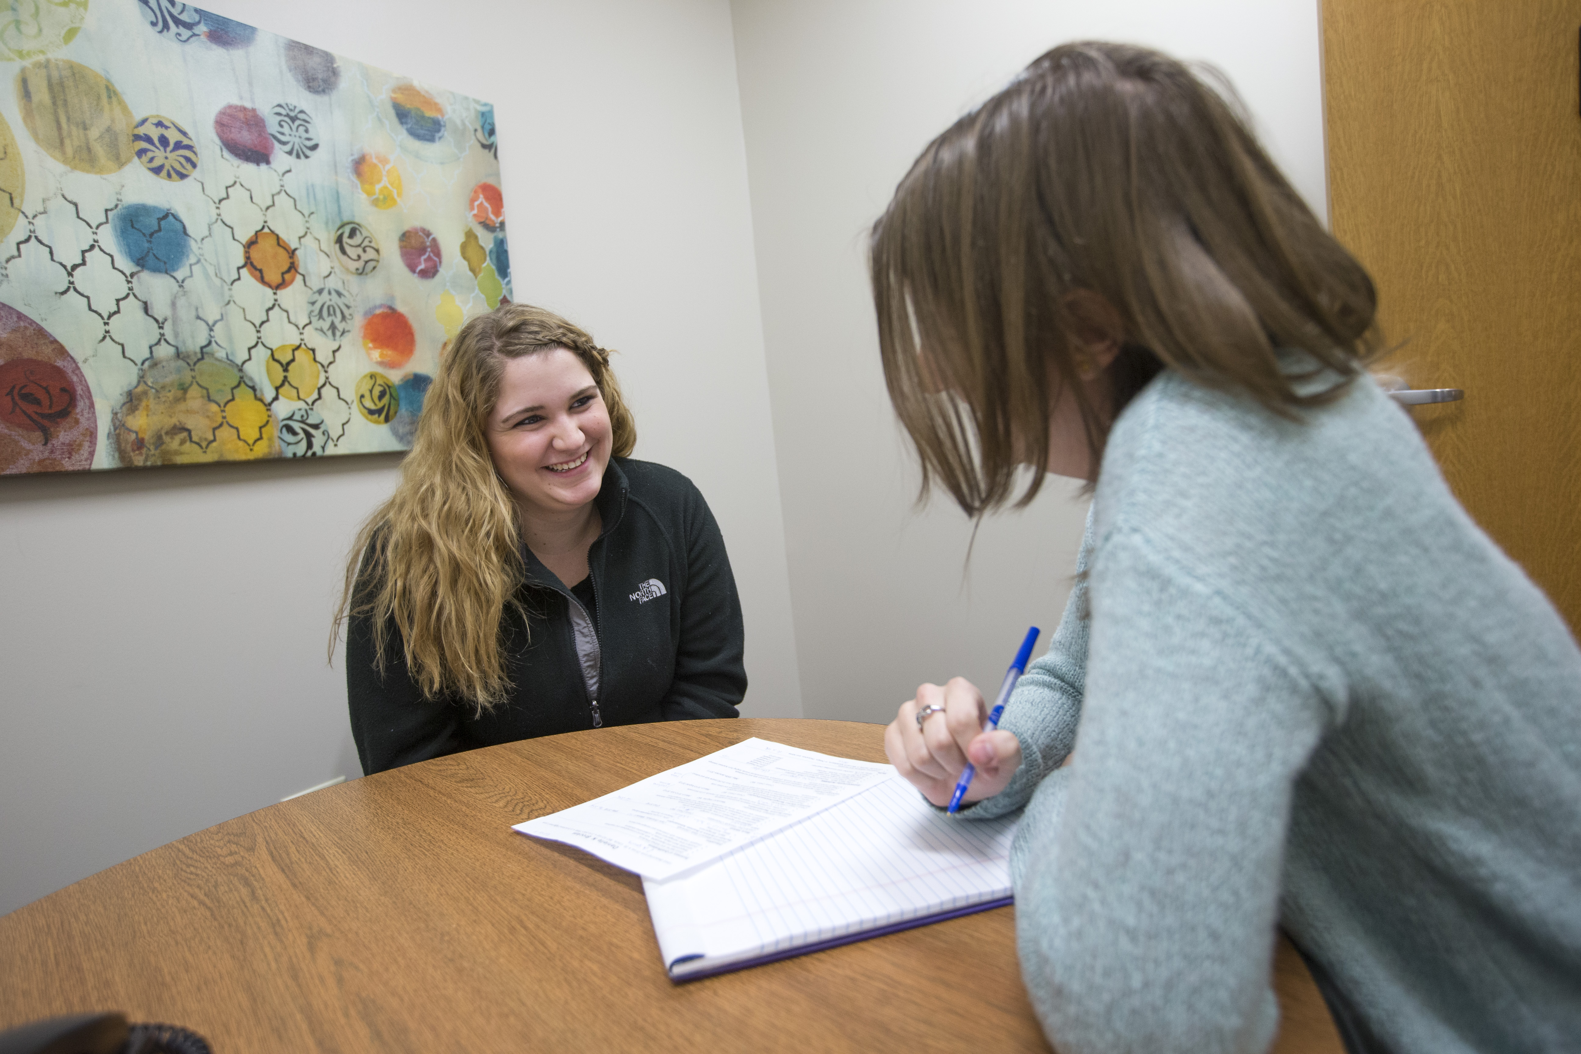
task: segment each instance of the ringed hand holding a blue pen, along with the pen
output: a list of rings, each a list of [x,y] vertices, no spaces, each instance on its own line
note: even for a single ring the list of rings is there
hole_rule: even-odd
[[[1037,627],[1028,631],[1006,673],[994,706],[963,678],[949,684],[923,684],[917,697],[903,703],[884,730],[884,751],[890,763],[928,801],[945,807],[991,798],[1004,790],[1021,765],[1021,743],[996,725],[1004,703],[1026,668]],[[966,776],[968,771],[971,776]],[[961,784],[966,787],[961,787]]]

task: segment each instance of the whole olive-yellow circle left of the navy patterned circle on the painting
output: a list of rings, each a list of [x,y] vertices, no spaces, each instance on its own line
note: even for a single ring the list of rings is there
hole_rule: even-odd
[[[16,74],[16,106],[38,147],[70,169],[119,172],[133,158],[131,107],[115,85],[70,58],[40,58]]]

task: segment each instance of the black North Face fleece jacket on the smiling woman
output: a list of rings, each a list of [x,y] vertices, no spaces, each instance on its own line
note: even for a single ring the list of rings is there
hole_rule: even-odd
[[[394,623],[381,676],[372,619],[351,619],[346,700],[364,773],[579,728],[738,716],[741,604],[702,495],[662,465],[610,458],[594,501],[604,529],[580,588],[593,610],[523,547],[531,632],[506,612],[514,687],[482,717],[466,700],[422,697]]]

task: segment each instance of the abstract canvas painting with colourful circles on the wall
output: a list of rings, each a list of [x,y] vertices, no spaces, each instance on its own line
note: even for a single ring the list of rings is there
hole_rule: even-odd
[[[174,0],[0,0],[0,472],[411,446],[511,295],[493,107]]]

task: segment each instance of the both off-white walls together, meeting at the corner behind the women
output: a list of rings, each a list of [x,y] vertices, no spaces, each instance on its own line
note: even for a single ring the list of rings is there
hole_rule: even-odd
[[[1225,68],[1323,204],[1312,0],[207,6],[495,103],[517,294],[623,351],[639,455],[708,495],[748,716],[805,687],[806,716],[889,721],[920,679],[993,684],[1064,602],[1072,487],[990,520],[964,578],[964,518],[911,512],[862,247],[931,136],[1058,41],[1132,40]],[[323,645],[397,465],[0,479],[0,912],[356,776]]]

